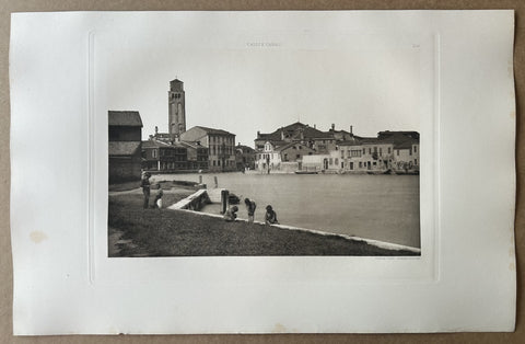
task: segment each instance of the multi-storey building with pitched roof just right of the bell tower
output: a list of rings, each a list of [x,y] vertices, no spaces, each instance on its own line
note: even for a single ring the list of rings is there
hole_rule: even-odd
[[[235,135],[222,129],[196,126],[180,134],[180,141],[208,148],[210,171],[235,171]]]

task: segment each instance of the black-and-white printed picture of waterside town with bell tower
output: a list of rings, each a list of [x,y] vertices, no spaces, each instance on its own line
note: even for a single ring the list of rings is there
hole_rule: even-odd
[[[116,44],[108,255],[419,256],[418,48]]]

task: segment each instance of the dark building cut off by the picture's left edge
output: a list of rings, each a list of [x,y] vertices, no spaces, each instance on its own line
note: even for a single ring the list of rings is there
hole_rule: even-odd
[[[109,183],[140,180],[142,119],[138,111],[109,111]]]

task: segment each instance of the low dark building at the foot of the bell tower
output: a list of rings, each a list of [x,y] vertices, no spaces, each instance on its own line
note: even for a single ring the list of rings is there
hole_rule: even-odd
[[[142,168],[147,171],[173,172],[187,170],[187,148],[155,139],[142,141]]]

